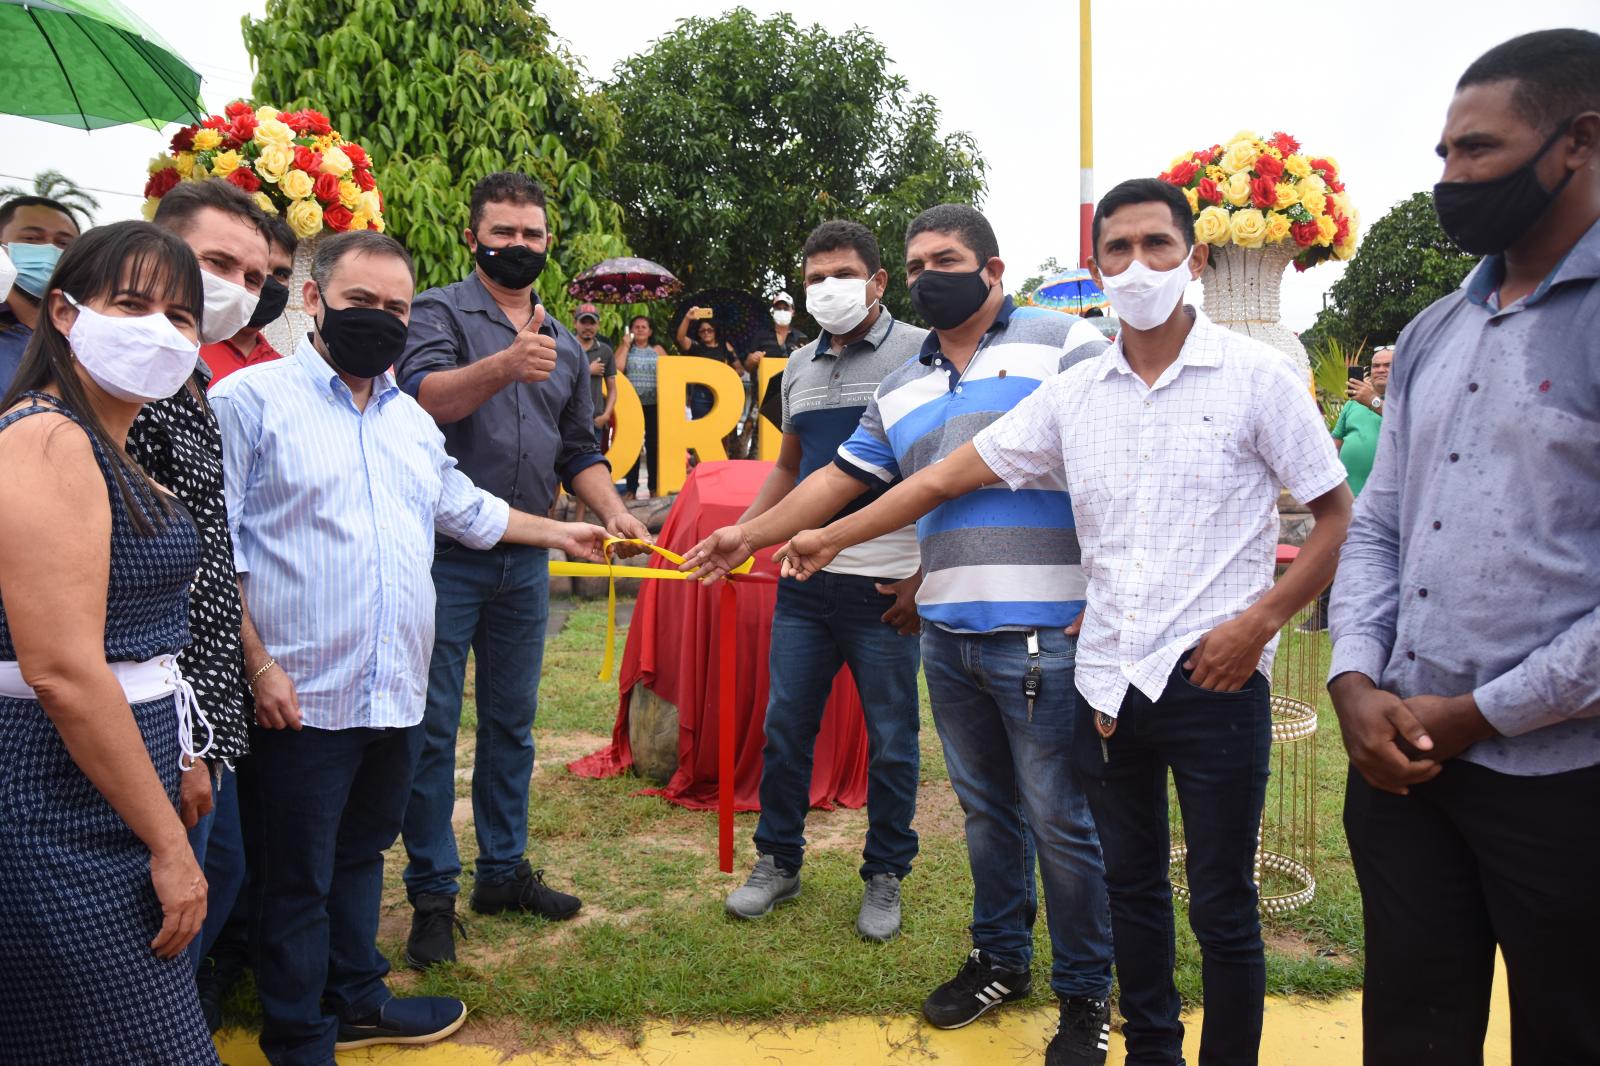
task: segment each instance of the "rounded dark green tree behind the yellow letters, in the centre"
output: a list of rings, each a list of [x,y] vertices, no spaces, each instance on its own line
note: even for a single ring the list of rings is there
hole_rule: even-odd
[[[691,290],[798,293],[806,234],[848,218],[877,234],[885,303],[904,315],[906,226],[984,192],[971,136],[941,136],[938,104],[861,27],[835,37],[744,8],[683,19],[618,64],[606,94],[622,114],[610,190],[629,240]]]

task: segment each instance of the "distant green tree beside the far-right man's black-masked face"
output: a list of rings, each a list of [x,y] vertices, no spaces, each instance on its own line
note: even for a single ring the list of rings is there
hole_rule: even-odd
[[[1474,262],[1440,229],[1434,198],[1413,194],[1366,230],[1362,250],[1328,291],[1328,309],[1301,339],[1307,347],[1325,338],[1346,346],[1394,344],[1411,319],[1461,285]]]

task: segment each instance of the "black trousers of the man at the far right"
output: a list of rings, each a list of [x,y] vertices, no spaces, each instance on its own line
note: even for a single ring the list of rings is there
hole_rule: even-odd
[[[1600,1063],[1600,767],[1518,778],[1461,759],[1410,795],[1350,770],[1368,1066],[1483,1063],[1494,948],[1517,1066]]]

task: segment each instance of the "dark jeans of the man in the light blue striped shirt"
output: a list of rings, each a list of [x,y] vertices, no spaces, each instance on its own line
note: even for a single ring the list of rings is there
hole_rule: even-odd
[[[331,1066],[338,1020],[390,997],[376,946],[384,852],[421,739],[416,725],[251,731],[251,943],[272,1066]]]

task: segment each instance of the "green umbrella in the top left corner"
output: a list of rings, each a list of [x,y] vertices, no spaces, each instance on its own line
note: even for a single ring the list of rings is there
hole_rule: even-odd
[[[0,0],[0,114],[77,130],[203,122],[200,75],[115,0]]]

